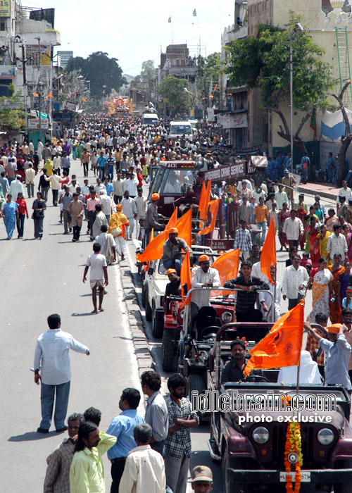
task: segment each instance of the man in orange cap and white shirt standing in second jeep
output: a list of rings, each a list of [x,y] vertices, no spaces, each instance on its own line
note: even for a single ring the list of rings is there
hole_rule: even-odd
[[[209,306],[210,289],[220,287],[220,277],[218,270],[210,268],[210,258],[208,255],[199,257],[199,267],[191,272],[191,286],[203,289],[194,291],[191,294],[191,320],[196,318],[199,308]]]

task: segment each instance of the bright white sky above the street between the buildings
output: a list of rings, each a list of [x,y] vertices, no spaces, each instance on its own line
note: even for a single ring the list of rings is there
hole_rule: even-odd
[[[55,8],[55,29],[61,33],[56,50],[73,50],[73,56],[87,58],[105,51],[118,58],[123,73],[137,75],[142,62],[160,63],[166,46],[186,43],[190,54],[220,51],[224,28],[234,23],[234,0],[142,1],[126,4],[115,0],[22,0],[31,8]],[[192,15],[196,8],[197,17]],[[168,23],[171,17],[172,22]],[[198,20],[198,23],[197,23]]]

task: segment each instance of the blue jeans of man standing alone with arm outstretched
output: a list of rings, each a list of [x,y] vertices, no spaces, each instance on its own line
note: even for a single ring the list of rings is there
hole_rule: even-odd
[[[70,382],[61,383],[60,385],[47,385],[42,382],[40,391],[40,403],[42,405],[42,421],[40,428],[49,430],[51,425],[51,416],[53,416],[54,399],[56,392],[54,424],[56,430],[61,430],[65,425],[65,418],[68,408],[68,396],[70,395]]]

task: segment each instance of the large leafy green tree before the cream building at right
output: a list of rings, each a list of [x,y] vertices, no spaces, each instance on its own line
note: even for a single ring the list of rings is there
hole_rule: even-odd
[[[290,128],[279,105],[289,101],[289,35],[294,33],[294,109],[305,113],[294,133],[294,146],[303,152],[306,147],[299,134],[315,109],[324,111],[331,108],[328,92],[334,86],[334,80],[331,65],[320,59],[324,49],[313,43],[305,32],[294,32],[294,26],[300,21],[301,18],[291,12],[287,29],[259,25],[257,37],[233,41],[226,47],[225,73],[230,75],[230,83],[234,86],[260,88],[262,108],[279,115],[282,125],[279,125],[277,133],[290,142]]]

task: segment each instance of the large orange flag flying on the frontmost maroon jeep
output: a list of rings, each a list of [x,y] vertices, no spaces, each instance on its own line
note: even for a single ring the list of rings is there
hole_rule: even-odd
[[[244,368],[249,375],[257,368],[281,368],[298,365],[301,358],[304,323],[304,301],[285,313],[249,353],[251,358]]]

